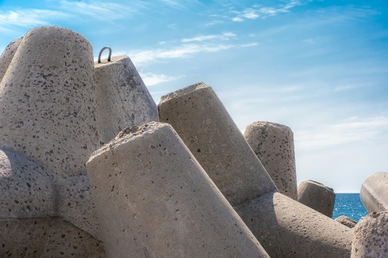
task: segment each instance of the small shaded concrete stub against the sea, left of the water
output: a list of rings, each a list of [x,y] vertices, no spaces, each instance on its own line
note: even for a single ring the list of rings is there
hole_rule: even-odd
[[[332,188],[313,180],[298,185],[298,201],[328,217],[333,216],[335,193]]]

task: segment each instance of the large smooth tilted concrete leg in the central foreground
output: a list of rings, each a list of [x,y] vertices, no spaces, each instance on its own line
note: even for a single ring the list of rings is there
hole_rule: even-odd
[[[86,166],[108,257],[269,258],[171,126],[124,129]]]

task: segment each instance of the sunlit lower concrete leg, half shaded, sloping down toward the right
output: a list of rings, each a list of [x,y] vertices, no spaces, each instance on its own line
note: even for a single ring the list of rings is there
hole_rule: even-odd
[[[236,210],[274,258],[350,258],[348,227],[280,193],[270,192]]]

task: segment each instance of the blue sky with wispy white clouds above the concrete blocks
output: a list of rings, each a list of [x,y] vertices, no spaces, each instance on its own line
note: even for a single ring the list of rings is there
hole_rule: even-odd
[[[289,126],[298,183],[388,171],[386,0],[0,0],[1,49],[42,25],[131,57],[157,103],[203,81],[242,131]]]

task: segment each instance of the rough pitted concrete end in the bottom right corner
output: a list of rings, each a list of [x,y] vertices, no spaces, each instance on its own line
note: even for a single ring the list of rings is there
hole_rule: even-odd
[[[351,258],[388,258],[388,211],[374,212],[358,221]]]

